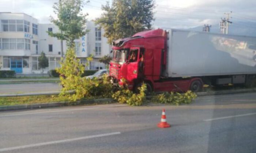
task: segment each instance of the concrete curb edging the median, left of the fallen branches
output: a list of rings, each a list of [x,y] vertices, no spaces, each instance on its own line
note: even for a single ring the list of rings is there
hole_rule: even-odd
[[[35,104],[25,104],[25,105],[12,105],[12,106],[0,106],[0,111],[4,110],[19,110],[19,109],[39,109],[47,107],[61,107],[71,105],[80,105],[80,104],[91,104],[91,103],[102,103],[102,102],[113,102],[112,98],[103,98],[103,99],[88,99],[77,101],[74,103],[71,102],[53,102],[53,103],[35,103]]]

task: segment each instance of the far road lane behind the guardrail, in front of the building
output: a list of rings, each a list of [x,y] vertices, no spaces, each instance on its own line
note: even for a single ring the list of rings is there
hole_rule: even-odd
[[[0,85],[0,94],[41,93],[60,90],[61,86],[59,83],[22,83]]]

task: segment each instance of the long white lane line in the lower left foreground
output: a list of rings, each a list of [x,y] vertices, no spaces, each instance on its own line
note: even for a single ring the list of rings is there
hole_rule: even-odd
[[[79,138],[72,138],[72,139],[64,139],[64,140],[57,140],[57,141],[50,141],[50,142],[42,142],[42,143],[38,143],[38,144],[15,146],[15,147],[10,147],[10,148],[2,148],[2,149],[0,149],[0,152],[10,151],[10,150],[17,150],[17,149],[24,149],[24,148],[31,148],[31,147],[35,147],[35,146],[60,144],[60,143],[64,143],[64,142],[71,142],[71,141],[84,140],[84,139],[90,139],[90,138],[112,136],[112,135],[116,135],[116,134],[121,134],[121,132],[105,133],[105,134],[98,134],[98,135],[93,135],[93,136],[86,136],[86,137],[79,137]]]

